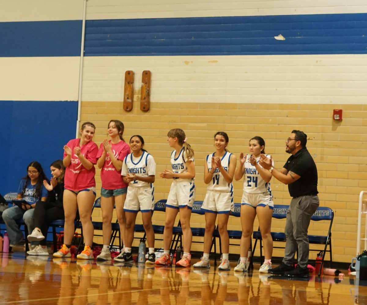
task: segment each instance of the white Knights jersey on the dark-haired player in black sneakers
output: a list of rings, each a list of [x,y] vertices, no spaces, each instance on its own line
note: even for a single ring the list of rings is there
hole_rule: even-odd
[[[152,155],[148,152],[143,151],[143,154],[136,158],[133,153],[128,154],[122,164],[121,176],[126,176],[127,174],[136,174],[141,177],[155,176],[156,174],[156,162]],[[151,187],[152,183],[133,180],[130,181],[129,187]]]

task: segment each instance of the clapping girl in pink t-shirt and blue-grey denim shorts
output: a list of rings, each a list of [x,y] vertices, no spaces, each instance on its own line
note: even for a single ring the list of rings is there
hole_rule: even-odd
[[[124,141],[124,124],[119,120],[111,120],[108,123],[108,135],[111,140],[103,140],[97,154],[97,166],[101,169],[101,208],[102,208],[102,232],[103,248],[97,260],[111,260],[109,243],[111,239],[113,206],[116,206],[117,220],[119,221],[122,243],[125,246],[126,218],[123,210],[127,183],[121,176],[122,162],[130,154],[130,146]]]

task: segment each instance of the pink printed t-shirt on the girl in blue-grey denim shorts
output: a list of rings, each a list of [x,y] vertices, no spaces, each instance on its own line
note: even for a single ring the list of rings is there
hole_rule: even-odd
[[[108,141],[111,143],[111,140]],[[113,144],[112,152],[115,155],[117,160],[124,161],[124,158],[130,154],[130,146],[124,142],[120,141],[119,143]],[[101,157],[103,154],[103,143],[99,146],[97,159]],[[101,169],[101,180],[102,180],[102,187],[105,190],[116,190],[117,188],[124,188],[127,187],[127,184],[124,183],[121,176],[121,170],[116,170],[115,166],[113,165],[108,152],[106,153],[106,160],[103,164]]]

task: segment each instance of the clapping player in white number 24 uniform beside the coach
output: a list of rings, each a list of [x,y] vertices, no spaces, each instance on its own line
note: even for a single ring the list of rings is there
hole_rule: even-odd
[[[273,239],[270,227],[273,215],[273,194],[270,189],[272,174],[259,164],[260,154],[265,154],[265,141],[262,137],[253,137],[248,143],[250,155],[240,154],[240,166],[236,169],[236,181],[244,177],[243,195],[241,199],[241,227],[240,262],[235,271],[246,271],[248,249],[250,249],[251,235],[254,228],[255,216],[259,220],[259,227],[264,243],[265,261],[259,272],[268,273],[272,268]],[[270,158],[270,155],[267,155]]]

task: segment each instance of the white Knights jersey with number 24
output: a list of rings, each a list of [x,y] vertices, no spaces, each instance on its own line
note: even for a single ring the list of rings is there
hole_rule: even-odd
[[[270,155],[266,155],[270,158]],[[260,156],[256,158],[256,162],[259,163]],[[259,164],[259,166],[261,166]],[[274,161],[272,163],[274,166]],[[247,155],[246,162],[244,164],[245,172],[243,179],[243,191],[250,194],[265,193],[267,192],[271,195],[272,190],[270,188],[270,182],[265,182],[259,172],[256,170],[255,166],[250,163],[250,155]]]

